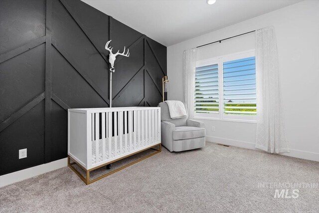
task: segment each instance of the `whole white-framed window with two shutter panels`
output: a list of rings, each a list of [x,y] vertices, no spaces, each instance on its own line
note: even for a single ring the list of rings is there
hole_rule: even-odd
[[[197,61],[195,117],[256,120],[254,50]]]

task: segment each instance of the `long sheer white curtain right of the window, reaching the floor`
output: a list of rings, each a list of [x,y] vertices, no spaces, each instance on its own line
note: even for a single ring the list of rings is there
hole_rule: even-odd
[[[278,72],[278,53],[272,26],[256,30],[256,148],[290,152],[285,133]]]

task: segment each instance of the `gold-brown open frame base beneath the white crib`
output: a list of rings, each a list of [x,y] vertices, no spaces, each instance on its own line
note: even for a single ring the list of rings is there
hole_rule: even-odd
[[[159,149],[155,149],[155,147],[157,147],[157,146],[159,146]],[[114,162],[117,162],[117,161],[119,161],[119,160],[122,160],[122,159],[124,159],[124,158],[130,157],[130,156],[132,156],[132,155],[135,155],[135,154],[137,154],[137,153],[143,152],[143,151],[148,150],[148,149],[155,150],[156,152],[154,152],[154,153],[152,153],[152,154],[150,154],[150,155],[147,155],[147,156],[145,156],[145,157],[143,157],[143,158],[140,158],[140,159],[138,159],[138,160],[136,160],[136,161],[133,161],[133,162],[131,162],[131,163],[125,165],[125,166],[122,166],[122,167],[120,167],[120,168],[118,168],[118,169],[116,169],[116,170],[113,170],[112,172],[109,172],[109,173],[107,173],[107,174],[104,174],[104,175],[102,175],[102,176],[100,176],[100,177],[98,177],[98,178],[95,178],[95,179],[93,179],[93,180],[90,180],[90,172],[91,172],[91,171],[96,170],[96,169],[99,169],[99,168],[101,168],[101,167],[104,167],[104,166],[106,166],[106,165],[108,165],[108,164],[112,164],[112,163],[114,163]],[[98,167],[94,167],[94,168],[89,169],[89,170],[85,169],[82,165],[80,165],[78,162],[76,162],[73,158],[71,158],[71,157],[68,155],[68,167],[70,167],[71,170],[73,170],[73,171],[75,172],[75,174],[77,174],[77,175],[81,178],[81,180],[82,180],[86,185],[89,185],[89,184],[92,184],[92,183],[94,183],[94,182],[96,182],[96,181],[102,179],[102,178],[105,178],[105,177],[107,177],[107,176],[109,176],[109,175],[112,175],[113,173],[116,173],[116,172],[118,172],[118,171],[120,171],[120,170],[123,170],[123,169],[125,169],[125,168],[127,168],[127,167],[129,167],[129,166],[131,166],[131,165],[133,165],[133,164],[136,164],[136,163],[138,163],[138,162],[140,162],[140,161],[143,161],[144,159],[147,159],[147,158],[149,158],[149,157],[151,157],[151,156],[153,156],[153,155],[156,155],[156,154],[158,154],[158,153],[160,153],[160,152],[161,152],[161,144],[157,144],[157,145],[154,145],[154,146],[152,146],[152,147],[148,147],[148,148],[146,148],[146,149],[144,149],[144,150],[141,150],[141,151],[139,151],[139,152],[136,152],[136,153],[133,153],[133,154],[131,154],[131,155],[125,156],[125,157],[123,157],[123,158],[120,158],[120,159],[117,159],[117,160],[114,160],[114,161],[111,161],[111,162],[102,164],[102,165],[100,165],[100,166],[98,166]],[[70,159],[72,159],[72,161],[73,161],[72,163],[70,163]],[[77,170],[73,167],[74,164],[77,164],[79,167],[81,167],[81,168],[86,172],[86,178],[85,178],[81,173],[79,173],[79,171],[77,171]]]

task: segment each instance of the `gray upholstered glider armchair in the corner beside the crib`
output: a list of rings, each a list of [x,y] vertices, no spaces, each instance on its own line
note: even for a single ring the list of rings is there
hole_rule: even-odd
[[[198,149],[205,146],[204,123],[185,118],[171,119],[168,106],[160,102],[161,144],[170,152]],[[186,112],[187,106],[184,104]]]

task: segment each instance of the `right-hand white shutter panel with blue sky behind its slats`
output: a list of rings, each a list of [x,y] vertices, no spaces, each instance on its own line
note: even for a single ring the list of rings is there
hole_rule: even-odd
[[[255,56],[223,62],[224,114],[256,115]]]

